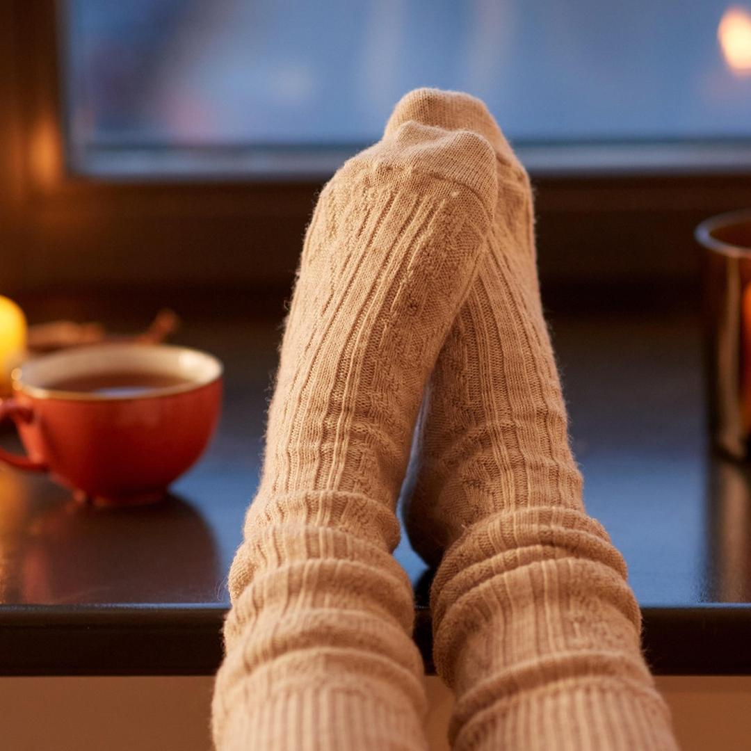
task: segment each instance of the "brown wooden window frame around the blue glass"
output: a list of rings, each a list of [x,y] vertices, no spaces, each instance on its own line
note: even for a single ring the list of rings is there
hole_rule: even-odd
[[[5,291],[288,288],[322,179],[105,180],[65,169],[54,0],[0,8]],[[751,175],[533,170],[544,285],[695,280],[692,228],[749,207]],[[607,294],[610,294],[609,292]]]

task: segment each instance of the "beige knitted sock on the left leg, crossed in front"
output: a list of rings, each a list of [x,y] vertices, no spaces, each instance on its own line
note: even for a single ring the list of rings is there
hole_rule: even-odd
[[[395,499],[496,195],[483,137],[405,122],[326,185],[230,573],[219,749],[423,749]]]

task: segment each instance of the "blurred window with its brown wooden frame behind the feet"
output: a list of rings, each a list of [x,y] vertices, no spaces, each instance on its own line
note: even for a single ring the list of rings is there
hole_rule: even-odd
[[[415,86],[484,98],[514,143],[553,306],[695,301],[692,228],[748,200],[751,4],[8,0],[0,22],[8,294],[281,299],[321,184]]]

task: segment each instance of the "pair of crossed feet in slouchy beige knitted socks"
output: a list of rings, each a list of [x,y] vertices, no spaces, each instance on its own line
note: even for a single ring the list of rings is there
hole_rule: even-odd
[[[422,407],[422,409],[421,409]],[[394,505],[438,566],[455,748],[674,748],[638,605],[581,475],[526,173],[480,101],[420,89],[306,234],[264,471],[230,573],[220,749],[423,749]]]

